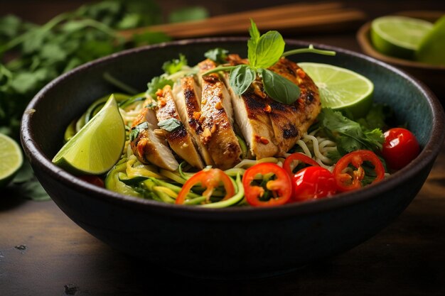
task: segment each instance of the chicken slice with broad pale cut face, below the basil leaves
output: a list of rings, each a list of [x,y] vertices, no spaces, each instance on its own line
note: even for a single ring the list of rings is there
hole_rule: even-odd
[[[278,147],[273,143],[274,130],[269,119],[270,106],[264,98],[248,89],[241,96],[235,94],[229,86],[229,75],[225,75],[225,84],[232,98],[237,128],[245,138],[252,156],[257,159],[277,155]]]

